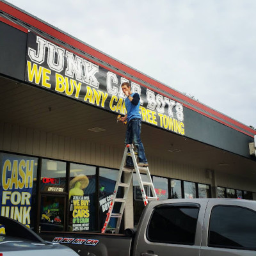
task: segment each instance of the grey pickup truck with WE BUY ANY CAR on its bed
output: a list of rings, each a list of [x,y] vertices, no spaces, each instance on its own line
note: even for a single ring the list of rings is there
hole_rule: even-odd
[[[150,202],[138,230],[125,234],[42,232],[90,256],[256,255],[256,202],[178,199]]]

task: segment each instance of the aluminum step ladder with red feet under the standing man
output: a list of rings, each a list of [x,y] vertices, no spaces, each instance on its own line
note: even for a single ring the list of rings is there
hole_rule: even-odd
[[[132,157],[132,162],[134,164],[134,169],[125,168],[125,163],[126,163],[127,156]],[[132,181],[132,174],[134,172],[136,173],[137,178],[138,178],[138,182],[139,182],[139,185],[140,185],[140,191],[141,191],[141,195],[142,195],[144,205],[146,206],[148,204],[148,201],[150,201],[150,200],[158,200],[159,199],[156,196],[156,191],[155,191],[154,184],[152,182],[148,167],[138,166],[136,159],[137,159],[137,154],[134,152],[133,145],[132,144],[127,144],[126,147],[125,147],[125,150],[124,150],[124,156],[122,158],[122,163],[120,165],[118,177],[116,179],[116,185],[115,185],[114,193],[111,197],[111,201],[110,201],[106,221],[105,221],[104,226],[101,230],[102,233],[105,233],[106,231],[110,231],[112,233],[118,234],[119,229],[120,229],[120,225],[121,225],[121,221],[122,221],[122,216],[124,214],[126,198],[127,198],[128,192],[129,192],[131,181]],[[128,173],[127,183],[121,182],[122,175],[124,173]],[[141,173],[145,173],[147,175],[147,181],[143,181],[141,179]],[[152,196],[147,196],[146,195],[145,186],[148,186],[150,188]],[[116,197],[116,195],[117,195],[117,192],[118,192],[118,188],[121,188],[121,187],[126,188],[125,191],[124,191],[124,197],[118,198],[118,197]],[[113,213],[112,212],[113,207],[115,205],[115,202],[120,202],[121,203],[120,210],[119,210],[118,213]],[[109,221],[110,221],[111,218],[117,218],[115,228],[109,228],[108,227],[108,224],[109,224]]]

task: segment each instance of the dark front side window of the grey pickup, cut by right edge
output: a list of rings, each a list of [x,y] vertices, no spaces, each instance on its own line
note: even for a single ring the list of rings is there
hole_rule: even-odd
[[[256,250],[256,212],[218,205],[212,209],[208,246]]]

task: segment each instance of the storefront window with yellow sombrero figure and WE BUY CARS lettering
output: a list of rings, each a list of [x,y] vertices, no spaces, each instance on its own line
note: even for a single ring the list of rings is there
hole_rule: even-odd
[[[68,231],[96,230],[96,167],[70,164]]]

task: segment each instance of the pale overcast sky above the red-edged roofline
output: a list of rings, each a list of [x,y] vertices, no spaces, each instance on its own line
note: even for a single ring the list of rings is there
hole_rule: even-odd
[[[8,2],[256,127],[255,0]]]

